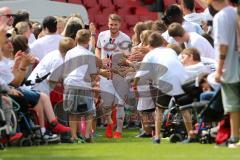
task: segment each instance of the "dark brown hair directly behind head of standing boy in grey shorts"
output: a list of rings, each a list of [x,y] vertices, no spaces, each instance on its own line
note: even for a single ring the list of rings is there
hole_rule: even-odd
[[[72,21],[66,26],[65,37],[75,39],[77,31],[82,29],[82,25],[76,21]]]

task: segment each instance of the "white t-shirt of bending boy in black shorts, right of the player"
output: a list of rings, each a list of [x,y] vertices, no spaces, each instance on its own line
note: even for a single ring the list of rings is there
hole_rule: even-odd
[[[155,48],[144,57],[142,63],[142,65],[150,65],[147,67],[146,71],[137,71],[135,77],[153,80],[153,83],[157,85],[160,90],[165,86],[159,85],[159,82],[165,82],[166,85],[171,85],[171,89],[164,92],[171,96],[184,93],[181,85],[187,80],[188,75],[174,50],[164,47]],[[162,75],[162,67],[157,67],[156,64],[165,67],[166,73]]]

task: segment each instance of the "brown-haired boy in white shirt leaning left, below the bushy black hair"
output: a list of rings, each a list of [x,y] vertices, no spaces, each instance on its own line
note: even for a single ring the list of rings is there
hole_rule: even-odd
[[[201,57],[215,59],[214,49],[202,36],[194,32],[186,32],[179,23],[172,23],[168,33],[177,42],[184,43],[186,48],[196,48]]]

